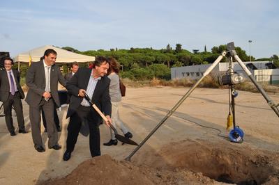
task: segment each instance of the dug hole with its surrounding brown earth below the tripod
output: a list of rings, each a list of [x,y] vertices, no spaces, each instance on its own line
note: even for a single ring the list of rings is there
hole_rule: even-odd
[[[169,143],[154,157],[138,158],[135,163],[158,170],[200,172],[218,182],[279,184],[278,157],[276,152],[252,150],[227,141],[210,143],[207,140],[183,140]]]

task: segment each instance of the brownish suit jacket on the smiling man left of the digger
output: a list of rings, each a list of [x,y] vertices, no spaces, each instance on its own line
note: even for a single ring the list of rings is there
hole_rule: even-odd
[[[58,81],[62,86],[66,86],[65,79],[57,65],[52,65],[50,69],[50,91],[57,107],[60,106],[57,92]],[[45,68],[43,61],[31,63],[27,71],[26,83],[29,87],[25,101],[29,106],[38,106],[45,92]]]

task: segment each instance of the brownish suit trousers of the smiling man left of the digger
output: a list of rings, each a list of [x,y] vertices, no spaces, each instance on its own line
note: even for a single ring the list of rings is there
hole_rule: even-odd
[[[43,146],[42,136],[40,136],[40,110],[45,112],[45,118],[47,120],[47,137],[48,147],[53,147],[57,144],[58,134],[54,123],[54,101],[50,98],[48,101],[41,99],[38,106],[29,106],[29,118],[31,122],[31,132],[33,143],[35,147]]]

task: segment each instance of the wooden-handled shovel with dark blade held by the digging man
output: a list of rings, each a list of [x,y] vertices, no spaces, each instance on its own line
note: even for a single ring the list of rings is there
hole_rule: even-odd
[[[89,104],[91,106],[93,106],[93,108],[99,113],[99,115],[103,118],[103,120],[105,120],[105,122],[108,122],[105,115],[100,111],[100,109],[98,108],[98,106],[96,106],[96,104],[93,104],[90,97],[85,92],[84,92],[84,95],[85,95],[84,98],[89,102]],[[114,135],[115,135],[117,140],[120,140],[122,143],[126,143],[126,144],[129,144],[129,145],[138,145],[137,143],[135,143],[135,141],[130,140],[129,138],[126,138],[124,136],[119,135],[117,130],[114,128],[114,126],[110,122],[108,122],[108,123],[110,125],[110,128],[112,128],[112,130],[114,131]]]

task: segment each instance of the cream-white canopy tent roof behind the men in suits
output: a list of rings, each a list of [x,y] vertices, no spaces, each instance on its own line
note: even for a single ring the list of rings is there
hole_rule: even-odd
[[[29,63],[40,61],[40,57],[43,56],[45,50],[54,49],[57,53],[56,63],[86,63],[95,61],[94,56],[86,56],[82,54],[75,54],[71,51],[67,51],[66,49],[61,49],[59,47],[54,47],[52,45],[45,45],[43,47],[37,47],[30,51],[24,52],[22,54],[18,54],[15,56],[14,61],[18,63],[18,69],[20,69],[20,63]]]

